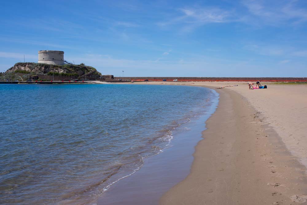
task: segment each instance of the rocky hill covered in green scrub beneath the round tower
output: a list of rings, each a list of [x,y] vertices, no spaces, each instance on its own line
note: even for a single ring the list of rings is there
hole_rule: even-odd
[[[32,75],[74,75],[82,76],[85,73],[91,75],[101,75],[95,68],[87,65],[50,65],[45,63],[16,63],[13,67],[8,69],[6,73],[23,73]]]

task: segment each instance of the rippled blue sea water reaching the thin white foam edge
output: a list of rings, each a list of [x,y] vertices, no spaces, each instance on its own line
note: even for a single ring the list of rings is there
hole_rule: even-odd
[[[0,85],[0,203],[87,204],[216,98],[188,86]]]

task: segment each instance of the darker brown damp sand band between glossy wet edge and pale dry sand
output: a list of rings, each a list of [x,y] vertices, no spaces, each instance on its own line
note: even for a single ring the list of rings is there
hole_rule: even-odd
[[[258,120],[264,116],[246,97],[229,88],[217,92],[220,104],[206,121],[190,174],[160,204],[305,202],[305,166],[273,128]]]

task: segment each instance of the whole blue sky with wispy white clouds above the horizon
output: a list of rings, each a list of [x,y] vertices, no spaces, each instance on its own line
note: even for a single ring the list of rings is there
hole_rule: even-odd
[[[0,71],[39,50],[115,76],[307,77],[307,1],[4,1]]]

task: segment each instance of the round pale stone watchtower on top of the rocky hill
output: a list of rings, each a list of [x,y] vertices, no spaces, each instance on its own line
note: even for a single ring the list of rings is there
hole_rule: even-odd
[[[38,51],[38,63],[64,65],[64,51],[40,50]]]

